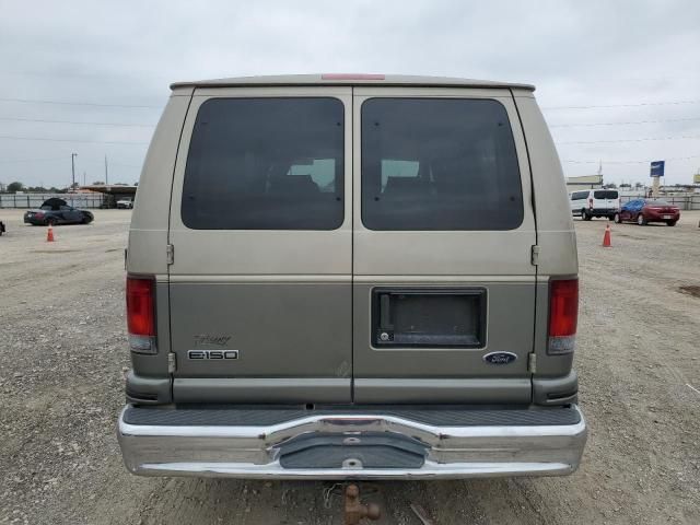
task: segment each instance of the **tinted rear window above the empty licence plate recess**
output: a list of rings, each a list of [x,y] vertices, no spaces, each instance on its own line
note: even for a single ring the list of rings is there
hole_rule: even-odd
[[[362,222],[370,230],[512,230],[523,222],[515,143],[489,100],[362,104]]]

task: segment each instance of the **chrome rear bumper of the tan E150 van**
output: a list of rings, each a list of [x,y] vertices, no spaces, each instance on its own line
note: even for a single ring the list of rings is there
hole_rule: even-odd
[[[586,442],[583,415],[573,406],[571,424],[429,424],[395,411],[347,411],[314,413],[281,422],[255,424],[201,424],[201,417],[188,423],[187,410],[173,410],[174,424],[138,424],[119,417],[118,439],[127,468],[142,476],[200,476],[278,479],[454,479],[494,476],[561,476],[573,472]],[[156,410],[156,409],[149,409]],[[550,409],[548,409],[550,410]],[[557,410],[557,409],[551,409]],[[158,410],[163,413],[162,410]],[[201,416],[201,410],[198,411]],[[156,412],[153,412],[156,413]],[[400,412],[399,412],[400,413]],[[170,415],[168,415],[170,416]],[[126,418],[129,419],[129,418]],[[493,418],[491,418],[493,419]],[[535,421],[536,423],[536,421]],[[290,443],[340,439],[341,446],[328,454],[341,454],[332,468],[284,466]],[[363,464],[353,448],[380,436],[382,442],[411,443],[423,451],[420,465],[407,468],[376,468]],[[298,445],[295,445],[299,448]],[[410,447],[410,446],[409,446]],[[360,448],[357,448],[360,450]],[[326,451],[322,452],[322,455]],[[316,454],[315,457],[319,457]],[[385,456],[382,456],[385,457]],[[289,462],[288,462],[289,465]]]

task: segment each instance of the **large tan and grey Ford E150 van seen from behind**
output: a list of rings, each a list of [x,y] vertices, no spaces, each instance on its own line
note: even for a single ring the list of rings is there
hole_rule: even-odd
[[[131,472],[576,469],[575,233],[533,86],[172,90],[128,241]]]

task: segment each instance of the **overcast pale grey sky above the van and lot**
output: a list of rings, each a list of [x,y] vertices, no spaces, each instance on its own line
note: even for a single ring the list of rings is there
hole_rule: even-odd
[[[365,72],[532,83],[567,176],[700,171],[700,2],[0,0],[0,183],[138,180],[182,80]],[[78,122],[78,124],[75,124]]]

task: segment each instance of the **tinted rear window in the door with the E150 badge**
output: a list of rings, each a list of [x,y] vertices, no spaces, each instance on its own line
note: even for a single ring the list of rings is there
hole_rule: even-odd
[[[195,121],[182,218],[195,230],[335,230],[343,220],[337,98],[212,98]]]

